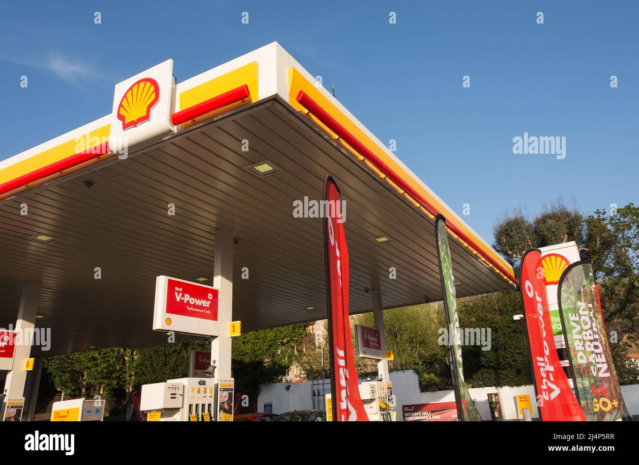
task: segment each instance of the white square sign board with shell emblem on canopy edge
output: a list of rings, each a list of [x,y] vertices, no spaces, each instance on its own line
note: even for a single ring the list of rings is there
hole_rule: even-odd
[[[116,84],[109,146],[123,153],[140,142],[175,132],[171,124],[175,78],[169,59]]]

